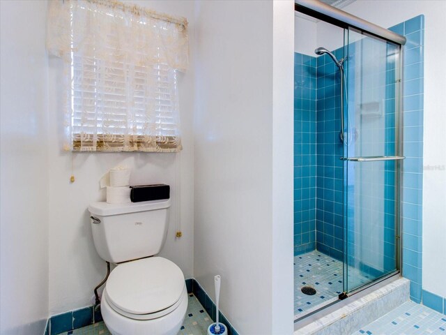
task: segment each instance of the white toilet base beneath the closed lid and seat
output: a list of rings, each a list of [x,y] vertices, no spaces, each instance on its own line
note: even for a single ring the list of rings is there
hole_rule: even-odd
[[[152,320],[134,320],[127,318],[109,305],[105,295],[102,295],[101,313],[104,323],[112,335],[176,335],[187,311],[187,290],[183,290],[178,307],[171,313]]]

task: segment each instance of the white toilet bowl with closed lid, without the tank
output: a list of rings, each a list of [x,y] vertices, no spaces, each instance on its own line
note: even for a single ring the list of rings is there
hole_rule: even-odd
[[[113,335],[176,335],[186,310],[183,273],[161,257],[118,265],[102,292],[102,318]]]

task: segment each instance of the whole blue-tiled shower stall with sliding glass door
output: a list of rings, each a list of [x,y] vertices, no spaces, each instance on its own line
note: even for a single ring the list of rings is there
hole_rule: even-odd
[[[295,17],[317,29],[316,45],[303,34],[295,46],[295,320],[399,274],[401,262],[405,39],[309,2]]]

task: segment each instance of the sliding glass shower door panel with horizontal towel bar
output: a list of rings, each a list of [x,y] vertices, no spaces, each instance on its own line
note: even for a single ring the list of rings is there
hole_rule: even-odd
[[[399,263],[399,45],[346,32],[344,292]]]

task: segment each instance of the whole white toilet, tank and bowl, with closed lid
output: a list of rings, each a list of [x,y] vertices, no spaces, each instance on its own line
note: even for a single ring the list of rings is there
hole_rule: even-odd
[[[102,292],[101,312],[113,335],[176,335],[187,310],[183,272],[151,257],[167,236],[170,200],[89,206],[95,248],[117,267]]]

